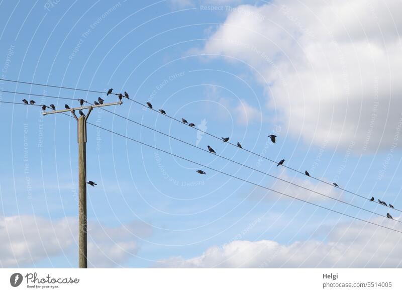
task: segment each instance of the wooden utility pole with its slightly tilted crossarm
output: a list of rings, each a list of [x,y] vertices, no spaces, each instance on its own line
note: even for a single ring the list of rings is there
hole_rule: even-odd
[[[58,110],[51,112],[43,112],[42,115],[56,114],[62,112],[71,112],[77,121],[78,126],[78,267],[87,268],[87,242],[86,242],[86,120],[92,111],[92,108],[105,107],[112,105],[121,105],[123,102],[108,103],[102,105],[78,107],[66,110]],[[81,115],[79,118],[75,115],[76,110],[89,109],[86,116]]]

